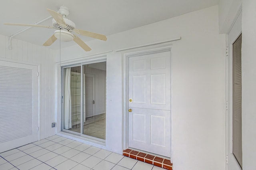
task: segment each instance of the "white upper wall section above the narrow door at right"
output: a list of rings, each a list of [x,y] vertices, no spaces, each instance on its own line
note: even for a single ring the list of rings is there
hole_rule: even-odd
[[[219,0],[219,31],[228,33],[242,8],[242,0]]]

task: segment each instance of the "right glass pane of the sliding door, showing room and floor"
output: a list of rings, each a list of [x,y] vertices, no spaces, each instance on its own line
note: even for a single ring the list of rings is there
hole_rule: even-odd
[[[106,62],[83,65],[83,134],[106,138]]]

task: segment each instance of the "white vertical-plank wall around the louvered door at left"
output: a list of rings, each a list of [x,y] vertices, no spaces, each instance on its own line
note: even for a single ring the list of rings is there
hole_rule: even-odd
[[[12,50],[8,49],[7,36],[0,35],[0,60],[39,65],[41,68],[41,106],[40,138],[47,138],[56,134],[56,128],[51,123],[56,122],[54,112],[54,53],[51,49],[33,45],[28,42],[12,38]],[[1,62],[1,61],[0,61]]]

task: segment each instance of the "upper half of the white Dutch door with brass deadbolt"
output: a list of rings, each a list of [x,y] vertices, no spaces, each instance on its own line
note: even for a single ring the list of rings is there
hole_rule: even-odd
[[[129,107],[170,110],[170,51],[130,57],[129,99]]]

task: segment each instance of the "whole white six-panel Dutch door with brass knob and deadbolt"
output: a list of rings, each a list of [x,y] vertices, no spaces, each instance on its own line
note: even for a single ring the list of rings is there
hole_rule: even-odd
[[[129,147],[170,157],[170,50],[129,57]]]

